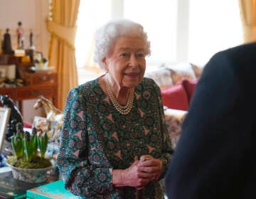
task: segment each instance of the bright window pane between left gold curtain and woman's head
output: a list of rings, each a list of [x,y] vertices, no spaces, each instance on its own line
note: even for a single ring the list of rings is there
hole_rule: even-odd
[[[78,30],[75,38],[75,58],[78,66],[78,82],[95,79],[99,70],[93,70],[93,35],[95,29],[110,19],[111,0],[80,1]],[[100,5],[100,6],[99,6]]]

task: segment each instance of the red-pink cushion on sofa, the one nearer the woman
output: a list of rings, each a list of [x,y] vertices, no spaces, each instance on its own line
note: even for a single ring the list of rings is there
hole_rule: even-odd
[[[188,97],[183,85],[177,84],[161,90],[163,104],[169,109],[188,110]]]

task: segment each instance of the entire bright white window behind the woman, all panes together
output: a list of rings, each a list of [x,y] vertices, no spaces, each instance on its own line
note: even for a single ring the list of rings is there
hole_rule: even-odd
[[[142,23],[151,41],[148,67],[179,62],[204,65],[214,53],[242,43],[238,1],[80,1],[75,43],[80,83],[101,74],[90,70],[93,33],[114,16]]]

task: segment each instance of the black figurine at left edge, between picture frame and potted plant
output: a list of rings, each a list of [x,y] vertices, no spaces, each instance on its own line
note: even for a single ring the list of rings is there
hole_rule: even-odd
[[[6,140],[11,141],[11,136],[13,136],[14,132],[16,131],[16,124],[23,124],[23,117],[21,112],[14,104],[14,101],[8,95],[0,95],[0,102],[5,108],[11,109],[9,124],[7,125],[6,130]]]

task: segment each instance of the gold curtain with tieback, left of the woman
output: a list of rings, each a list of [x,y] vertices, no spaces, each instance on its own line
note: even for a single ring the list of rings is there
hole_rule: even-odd
[[[80,0],[53,0],[51,18],[47,19],[50,32],[49,65],[58,72],[58,108],[63,110],[70,88],[78,85],[75,62],[75,33]]]

